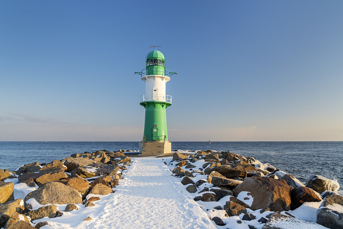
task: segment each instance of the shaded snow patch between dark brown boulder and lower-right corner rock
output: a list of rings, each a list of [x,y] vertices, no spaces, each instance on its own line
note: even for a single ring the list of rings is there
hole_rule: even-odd
[[[288,211],[293,216],[309,222],[316,222],[317,209],[323,201],[319,202],[305,202],[303,205],[293,211]]]

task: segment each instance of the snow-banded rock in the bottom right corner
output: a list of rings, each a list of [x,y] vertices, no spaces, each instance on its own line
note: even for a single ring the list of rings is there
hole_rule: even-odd
[[[343,228],[343,196],[326,196],[317,210],[317,224],[331,229]]]

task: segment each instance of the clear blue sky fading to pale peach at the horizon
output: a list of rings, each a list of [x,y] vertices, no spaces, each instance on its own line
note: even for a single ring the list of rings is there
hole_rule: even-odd
[[[0,141],[141,141],[151,45],[170,141],[342,141],[342,1],[0,1]]]

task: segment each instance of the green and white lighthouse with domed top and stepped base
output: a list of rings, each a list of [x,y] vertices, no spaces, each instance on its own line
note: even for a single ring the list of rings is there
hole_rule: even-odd
[[[151,47],[156,49],[156,46]],[[135,72],[145,82],[145,94],[140,96],[140,105],[145,108],[144,133],[140,143],[142,156],[171,153],[166,117],[171,96],[166,94],[166,83],[176,73],[170,72],[165,66],[163,53],[153,50],[146,56],[145,69]]]

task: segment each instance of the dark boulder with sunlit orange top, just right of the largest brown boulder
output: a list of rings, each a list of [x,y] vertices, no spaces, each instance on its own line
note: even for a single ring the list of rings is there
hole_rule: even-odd
[[[296,187],[291,190],[291,210],[300,207],[305,202],[319,202],[322,201],[322,197],[319,193],[313,191],[307,187]]]

